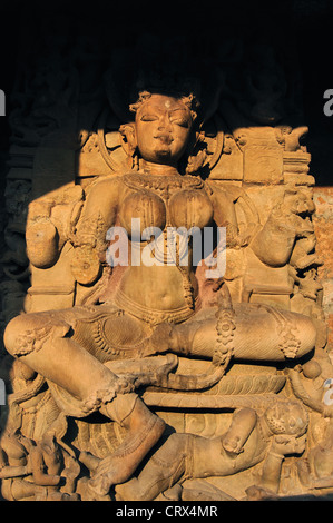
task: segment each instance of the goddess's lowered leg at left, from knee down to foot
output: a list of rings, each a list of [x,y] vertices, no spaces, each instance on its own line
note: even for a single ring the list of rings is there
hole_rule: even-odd
[[[84,406],[99,408],[127,428],[124,442],[100,470],[101,477],[107,475],[104,485],[108,490],[133,474],[161,436],[165,423],[135,393],[124,391],[124,381],[72,338],[75,323],[67,323],[63,316],[59,312],[13,318],[4,333],[6,348],[45,378],[65,388]],[[82,415],[85,412],[84,408]]]

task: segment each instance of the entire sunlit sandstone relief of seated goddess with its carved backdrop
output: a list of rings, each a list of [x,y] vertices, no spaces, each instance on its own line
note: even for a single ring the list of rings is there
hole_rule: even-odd
[[[26,227],[31,286],[4,332],[13,361],[2,495],[330,492],[333,368],[313,180],[300,145],[306,129],[275,125],[275,85],[273,110],[249,81],[258,125],[228,132],[218,111],[202,117],[195,89],[146,87],[127,100],[134,117],[119,131],[104,118],[65,147],[59,132],[70,126],[60,121],[37,148]],[[224,118],[233,110],[222,105]],[[85,178],[89,157],[104,170]],[[50,166],[72,165],[76,180],[63,175],[60,187],[41,189]],[[196,241],[208,230],[215,244],[198,260]]]

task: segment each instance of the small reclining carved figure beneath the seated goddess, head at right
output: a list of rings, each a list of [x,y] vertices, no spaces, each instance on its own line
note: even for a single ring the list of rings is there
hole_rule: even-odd
[[[117,485],[116,499],[155,500],[177,482],[228,476],[258,463],[262,475],[256,487],[266,495],[276,494],[284,457],[304,452],[307,423],[302,404],[284,401],[267,407],[262,416],[252,408],[235,411],[229,428],[219,437],[172,434],[137,477]]]

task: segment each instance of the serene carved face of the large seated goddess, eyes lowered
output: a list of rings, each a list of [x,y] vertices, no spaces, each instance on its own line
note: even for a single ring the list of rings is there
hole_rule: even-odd
[[[176,166],[184,154],[193,118],[185,103],[151,95],[137,110],[135,131],[141,157],[153,164]]]

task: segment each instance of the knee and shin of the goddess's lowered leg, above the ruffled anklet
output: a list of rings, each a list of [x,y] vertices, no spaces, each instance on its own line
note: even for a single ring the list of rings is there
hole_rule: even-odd
[[[80,401],[115,387],[118,377],[80,347],[59,313],[22,314],[4,332],[7,351]]]

